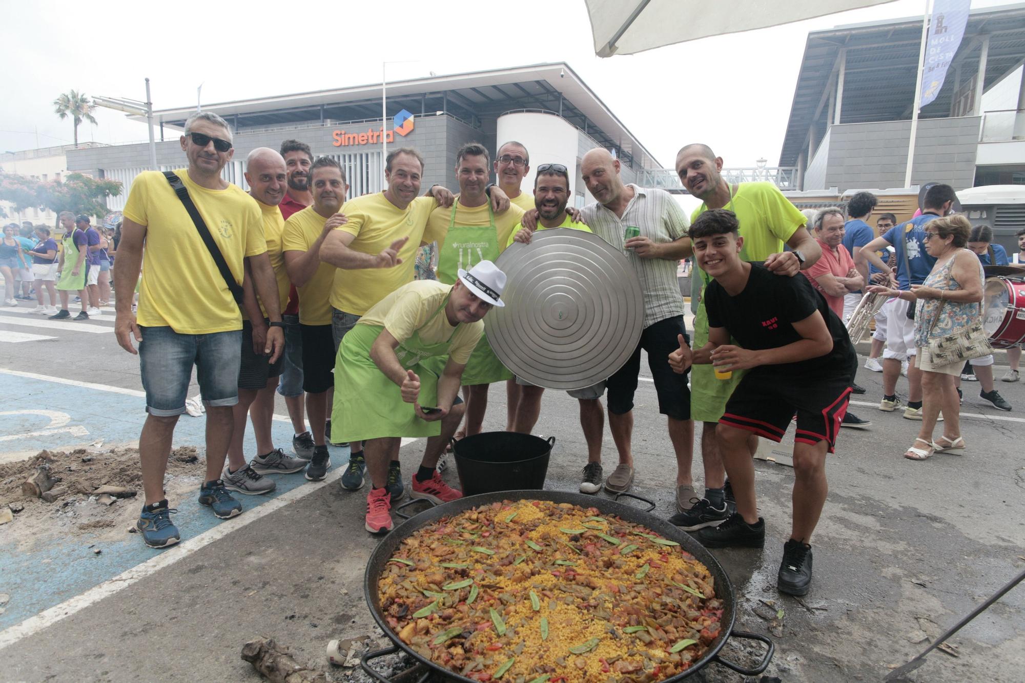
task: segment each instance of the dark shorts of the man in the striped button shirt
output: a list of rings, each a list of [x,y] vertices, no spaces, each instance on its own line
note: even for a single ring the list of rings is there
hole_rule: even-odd
[[[678,334],[683,334],[690,343],[690,336],[684,330],[683,316],[665,318],[644,328],[633,355],[606,381],[609,412],[623,415],[633,409],[633,392],[638,388],[641,350],[644,349],[648,353],[648,367],[658,394],[658,411],[672,419],[691,418],[691,390],[687,387],[690,371],[676,374],[669,367],[669,354],[680,348]]]

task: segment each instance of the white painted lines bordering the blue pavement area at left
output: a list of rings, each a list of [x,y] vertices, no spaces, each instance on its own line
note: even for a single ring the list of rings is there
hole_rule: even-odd
[[[98,389],[100,391],[112,391],[118,394],[129,394],[131,396],[142,395],[142,392],[136,392],[130,389],[122,389],[120,387],[108,387],[106,385],[96,385],[88,381],[78,381],[76,379],[64,379],[61,377],[49,377],[44,374],[36,374],[35,372],[23,372],[20,370],[7,370],[0,368],[0,372],[4,374],[11,374],[20,377],[30,377],[33,379],[43,379],[47,381],[55,381],[57,384],[71,385],[74,387],[85,387],[87,389]],[[402,440],[402,445],[418,441],[419,439],[404,438]],[[114,595],[121,589],[127,588],[132,584],[150,576],[151,574],[163,569],[164,567],[170,566],[182,560],[189,555],[192,555],[196,551],[209,546],[215,540],[223,538],[232,531],[241,529],[242,527],[255,522],[258,519],[266,517],[273,512],[284,508],[290,503],[299,500],[311,493],[320,490],[324,486],[327,486],[338,479],[345,472],[345,468],[339,467],[328,473],[320,482],[310,482],[302,484],[287,493],[282,493],[276,498],[269,500],[260,506],[257,506],[253,510],[246,512],[245,514],[236,517],[235,519],[224,520],[217,526],[204,531],[203,533],[189,538],[176,546],[172,546],[165,551],[155,551],[159,555],[154,556],[152,559],[147,560],[142,564],[136,565],[130,569],[127,569],[113,578],[109,578],[98,586],[94,586],[85,593],[77,595],[74,598],[65,600],[59,605],[54,605],[49,609],[45,609],[42,612],[36,614],[35,616],[30,616],[29,618],[15,624],[14,626],[0,631],[0,649],[3,649],[9,645],[28,638],[34,634],[39,633],[43,629],[52,626],[65,618],[66,616],[71,616],[82,609],[85,609],[89,605],[95,604]]]

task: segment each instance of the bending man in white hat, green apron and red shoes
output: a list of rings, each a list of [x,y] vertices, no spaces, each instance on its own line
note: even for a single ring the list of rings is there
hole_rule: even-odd
[[[331,421],[344,441],[366,442],[371,533],[392,529],[385,487],[403,437],[427,437],[410,495],[436,504],[462,496],[435,467],[462,419],[459,383],[484,334],[481,319],[504,306],[504,287],[505,274],[490,260],[460,269],[453,285],[416,280],[375,304],[342,338]]]

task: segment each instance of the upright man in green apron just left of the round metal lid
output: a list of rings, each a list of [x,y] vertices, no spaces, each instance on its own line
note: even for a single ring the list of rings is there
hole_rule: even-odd
[[[459,197],[451,208],[432,211],[427,220],[423,241],[438,242],[438,279],[445,284],[453,284],[460,269],[498,258],[523,216],[523,209],[515,204],[498,214],[492,210],[488,199],[490,169],[483,145],[468,143],[459,148],[455,168]],[[485,335],[463,372],[467,435],[481,431],[490,385],[510,379],[512,373],[495,356]],[[506,425],[506,429],[511,427]]]

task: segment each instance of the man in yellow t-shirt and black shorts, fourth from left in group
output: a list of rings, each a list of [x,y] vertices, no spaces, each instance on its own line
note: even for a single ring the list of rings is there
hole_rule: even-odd
[[[332,157],[320,157],[310,166],[314,203],[285,222],[282,238],[285,268],[299,292],[299,329],[302,332],[302,390],[314,437],[314,454],[305,478],[327,476],[331,457],[325,440],[330,391],[334,387],[334,342],[331,339],[331,282],[334,266],[321,260],[320,249],[335,228],[345,225],[340,212],[348,192],[341,166]]]

